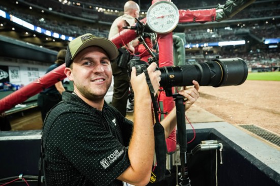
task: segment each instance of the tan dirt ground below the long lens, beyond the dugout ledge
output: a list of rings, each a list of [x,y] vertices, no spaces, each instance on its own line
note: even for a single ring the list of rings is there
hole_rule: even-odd
[[[201,86],[196,106],[233,124],[254,124],[280,135],[280,82],[246,80],[239,86]]]

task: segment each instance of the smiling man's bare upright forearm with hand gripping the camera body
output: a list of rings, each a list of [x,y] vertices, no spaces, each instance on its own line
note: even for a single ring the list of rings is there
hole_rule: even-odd
[[[155,68],[156,64],[152,63],[147,70],[154,89],[158,90],[161,73],[154,71]],[[130,166],[118,179],[134,185],[146,185],[151,177],[155,148],[152,99],[145,74],[136,76],[135,67],[132,68],[130,82],[134,91],[134,125],[128,148]]]

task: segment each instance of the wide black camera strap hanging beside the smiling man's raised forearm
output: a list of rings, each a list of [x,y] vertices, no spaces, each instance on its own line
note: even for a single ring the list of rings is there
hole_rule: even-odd
[[[156,162],[154,162],[152,172],[151,172],[151,177],[150,177],[150,183],[149,183],[152,184],[162,180],[165,177],[167,147],[166,147],[165,136],[164,136],[164,128],[162,127],[158,119],[159,106],[154,96],[155,90],[151,83],[146,66],[143,65],[142,70],[145,73],[146,81],[150,89],[150,94],[151,94],[154,113],[155,113],[155,120],[156,120],[154,125]]]

